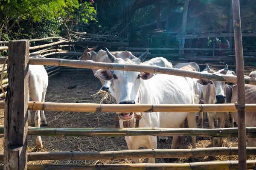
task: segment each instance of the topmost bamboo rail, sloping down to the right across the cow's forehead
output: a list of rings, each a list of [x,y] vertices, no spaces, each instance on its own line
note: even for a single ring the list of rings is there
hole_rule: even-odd
[[[4,62],[5,57],[0,57],[0,63]],[[169,74],[175,76],[191,77],[196,79],[210,79],[216,81],[236,82],[236,76],[216,75],[201,73],[195,71],[182,70],[177,68],[166,68],[151,65],[125,65],[116,63],[79,61],[70,59],[48,59],[48,58],[29,58],[29,64],[32,65],[57,65],[75,68],[107,69],[107,70],[125,70],[125,71],[143,71],[148,73]],[[256,80],[244,78],[245,84],[256,85]]]

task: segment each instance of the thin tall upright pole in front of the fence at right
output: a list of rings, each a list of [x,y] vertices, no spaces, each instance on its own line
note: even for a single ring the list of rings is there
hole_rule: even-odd
[[[241,33],[239,0],[233,0],[233,26],[236,50],[236,74],[238,93],[238,159],[239,170],[246,170],[246,129],[245,129],[245,92],[244,92],[244,57]]]

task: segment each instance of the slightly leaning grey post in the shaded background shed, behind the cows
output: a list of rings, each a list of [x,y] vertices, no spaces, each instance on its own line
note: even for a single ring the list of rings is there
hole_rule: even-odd
[[[186,20],[187,20],[187,15],[188,15],[188,8],[189,8],[189,0],[185,0],[184,4],[184,10],[183,10],[183,18],[182,18],[182,26],[180,33],[184,34],[186,32]],[[184,48],[185,46],[185,38],[182,37],[180,38],[180,48]],[[183,50],[179,51],[180,54],[184,54]]]

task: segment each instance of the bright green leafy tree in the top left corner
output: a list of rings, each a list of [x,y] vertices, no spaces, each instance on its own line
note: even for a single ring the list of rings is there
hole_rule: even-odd
[[[0,40],[58,35],[63,22],[87,23],[95,15],[92,3],[78,0],[0,0]]]

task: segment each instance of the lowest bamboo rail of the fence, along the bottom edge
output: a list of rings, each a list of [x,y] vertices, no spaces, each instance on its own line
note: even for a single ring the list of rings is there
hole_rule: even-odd
[[[247,161],[253,169],[256,161]],[[238,170],[238,161],[208,161],[183,164],[28,165],[27,170]],[[0,166],[3,170],[3,166]]]

